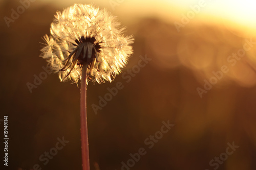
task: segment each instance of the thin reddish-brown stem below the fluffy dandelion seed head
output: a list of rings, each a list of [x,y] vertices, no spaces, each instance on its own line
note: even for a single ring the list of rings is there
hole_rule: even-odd
[[[89,142],[87,128],[87,106],[86,106],[86,91],[87,91],[87,64],[82,66],[81,78],[81,103],[80,103],[80,118],[81,118],[81,149],[82,149],[82,169],[90,170],[89,162]]]

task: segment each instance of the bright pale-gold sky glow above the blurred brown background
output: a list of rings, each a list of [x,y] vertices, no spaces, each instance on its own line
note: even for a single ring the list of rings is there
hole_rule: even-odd
[[[100,8],[107,8],[113,14],[127,17],[134,20],[143,16],[159,16],[165,20],[173,22],[180,21],[182,14],[187,15],[191,11],[191,7],[196,7],[201,4],[199,12],[191,19],[191,22],[199,20],[216,21],[230,27],[230,23],[234,27],[242,26],[242,30],[250,31],[250,34],[256,28],[256,10],[254,9],[256,2],[252,0],[231,1],[231,0],[151,0],[151,1],[136,1],[136,0],[95,0],[95,1],[68,1],[68,0],[38,0],[41,3],[54,3],[57,7],[66,8],[74,3],[93,3]],[[132,10],[131,10],[132,9]],[[211,19],[209,19],[211,18]],[[237,25],[238,26],[237,26]]]

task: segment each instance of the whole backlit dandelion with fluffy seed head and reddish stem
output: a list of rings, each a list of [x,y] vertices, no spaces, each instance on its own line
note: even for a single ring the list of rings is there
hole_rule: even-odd
[[[42,58],[48,60],[60,81],[81,80],[81,149],[83,169],[90,169],[86,113],[88,80],[111,82],[132,55],[133,37],[123,35],[124,28],[115,16],[92,5],[75,4],[57,12],[51,35],[44,37]]]

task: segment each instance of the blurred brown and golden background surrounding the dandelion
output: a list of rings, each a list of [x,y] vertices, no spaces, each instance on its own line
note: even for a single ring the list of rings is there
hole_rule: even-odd
[[[79,88],[44,77],[39,57],[54,14],[75,3],[108,9],[135,37],[134,54],[112,83],[89,82],[91,169],[256,169],[253,1],[1,0],[0,120],[8,115],[9,169],[81,169]],[[138,71],[140,56],[152,60]],[[123,88],[95,112],[117,82]],[[159,136],[163,121],[174,127]],[[65,147],[48,163],[39,160],[62,137]],[[239,148],[227,154],[227,143]],[[146,154],[129,161],[139,148]]]

